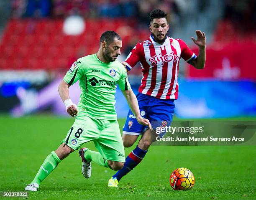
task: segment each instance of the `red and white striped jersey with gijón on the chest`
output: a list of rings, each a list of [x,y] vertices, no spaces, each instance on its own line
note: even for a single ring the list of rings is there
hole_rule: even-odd
[[[196,55],[181,39],[167,37],[161,45],[151,35],[133,48],[125,62],[128,71],[141,62],[143,77],[138,90],[140,93],[159,99],[177,99],[180,58],[189,63]]]

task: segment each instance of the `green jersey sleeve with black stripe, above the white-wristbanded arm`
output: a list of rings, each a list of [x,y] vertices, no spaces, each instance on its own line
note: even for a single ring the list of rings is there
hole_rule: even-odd
[[[64,76],[63,80],[70,86],[77,82],[84,75],[82,61],[75,61],[69,71]]]

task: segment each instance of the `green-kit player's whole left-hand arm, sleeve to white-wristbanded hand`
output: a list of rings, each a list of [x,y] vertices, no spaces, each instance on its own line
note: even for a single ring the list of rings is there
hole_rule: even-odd
[[[72,64],[58,87],[59,95],[66,106],[67,113],[70,116],[77,115],[78,108],[77,105],[69,98],[69,86],[77,82],[83,75],[83,66],[81,61],[78,60]]]

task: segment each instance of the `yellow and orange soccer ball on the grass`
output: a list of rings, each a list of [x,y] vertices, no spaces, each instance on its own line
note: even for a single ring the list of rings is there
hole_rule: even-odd
[[[170,176],[170,185],[174,190],[190,190],[194,184],[195,177],[187,168],[180,167]]]

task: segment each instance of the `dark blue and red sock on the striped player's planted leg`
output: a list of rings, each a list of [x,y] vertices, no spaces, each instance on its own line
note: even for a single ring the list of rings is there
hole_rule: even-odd
[[[125,165],[123,166],[123,168],[116,172],[113,177],[117,178],[117,180],[120,181],[123,176],[133,170],[133,168],[141,162],[141,160],[145,157],[146,152],[148,151],[144,151],[136,146],[136,148],[126,157]]]

